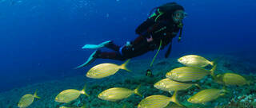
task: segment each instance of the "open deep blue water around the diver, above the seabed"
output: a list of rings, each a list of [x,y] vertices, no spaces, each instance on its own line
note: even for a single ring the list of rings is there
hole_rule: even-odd
[[[94,51],[82,49],[84,44],[134,40],[150,10],[166,2],[178,2],[189,14],[170,56],[230,53],[255,62],[254,0],[0,0],[0,92],[84,75],[88,68],[73,69]],[[154,52],[135,59],[148,56]],[[110,61],[122,63],[94,64]]]

